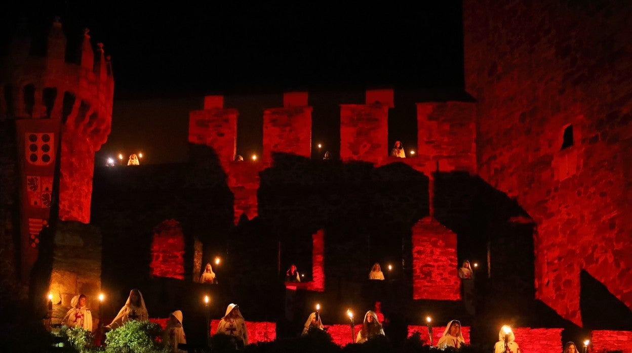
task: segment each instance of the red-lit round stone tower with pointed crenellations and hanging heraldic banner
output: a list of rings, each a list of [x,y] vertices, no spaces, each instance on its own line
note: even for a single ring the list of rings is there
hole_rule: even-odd
[[[54,216],[55,182],[59,220],[90,222],[94,155],[110,133],[114,93],[109,56],[100,43],[95,53],[87,29],[78,63],[66,61],[66,37],[58,19],[47,35],[46,56],[31,55],[31,43],[21,25],[8,55],[0,58],[0,122],[12,131],[3,133],[9,140],[3,152],[11,152],[3,153],[11,171],[3,172],[3,198],[9,200],[3,218],[19,222],[3,227],[3,236],[20,234],[22,278],[37,260],[40,230]]]

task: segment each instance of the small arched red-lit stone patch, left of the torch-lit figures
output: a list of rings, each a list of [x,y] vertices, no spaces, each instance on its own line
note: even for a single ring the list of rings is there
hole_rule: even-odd
[[[185,235],[179,222],[165,220],[157,225],[152,240],[152,276],[185,279]]]

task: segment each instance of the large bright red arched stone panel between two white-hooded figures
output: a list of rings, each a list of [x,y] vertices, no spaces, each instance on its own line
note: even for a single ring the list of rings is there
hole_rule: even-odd
[[[425,217],[413,233],[413,299],[461,299],[461,280],[457,274],[456,234]]]

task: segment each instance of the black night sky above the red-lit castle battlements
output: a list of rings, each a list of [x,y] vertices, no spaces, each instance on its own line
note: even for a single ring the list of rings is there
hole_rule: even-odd
[[[362,103],[366,87],[463,88],[461,1],[420,2],[415,8],[321,2],[98,4],[4,4],[0,16],[3,47],[21,16],[36,33],[61,16],[68,45],[78,44],[83,27],[90,28],[94,44],[104,43],[116,86],[112,133],[99,159],[142,149],[147,162],[185,160],[188,111],[199,109],[207,93],[257,94],[253,101],[274,107],[281,105],[279,94],[291,89],[344,91],[357,101],[342,102]],[[316,109],[314,114],[316,119]],[[240,124],[246,124],[242,131],[256,130],[256,115],[256,110],[240,115]],[[314,126],[314,135],[336,128]],[[260,149],[260,133],[251,135],[240,136],[238,153]]]

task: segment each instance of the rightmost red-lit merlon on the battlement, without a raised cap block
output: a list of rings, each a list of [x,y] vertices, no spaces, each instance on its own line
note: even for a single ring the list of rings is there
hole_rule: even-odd
[[[417,103],[416,169],[476,172],[475,113],[473,103]]]

